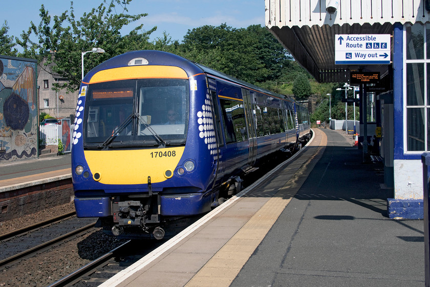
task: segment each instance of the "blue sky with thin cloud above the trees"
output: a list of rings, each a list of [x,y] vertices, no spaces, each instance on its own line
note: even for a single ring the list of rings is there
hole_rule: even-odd
[[[110,2],[110,0],[106,0]],[[20,36],[27,31],[30,21],[36,26],[40,23],[39,9],[44,4],[51,17],[69,10],[68,0],[17,0],[2,2],[0,9],[0,26],[5,20],[9,26],[9,36]],[[97,8],[102,0],[74,0],[75,18],[79,19],[84,12]],[[250,25],[264,26],[264,0],[133,0],[127,6],[128,14],[147,13],[135,26],[143,23],[145,31],[157,26],[157,31],[150,35],[150,40],[162,37],[165,31],[172,40],[182,42],[188,30],[203,25],[219,26],[226,23],[233,28],[246,28]],[[121,10],[122,11],[122,10]],[[118,13],[121,12],[117,10]],[[52,23],[52,20],[51,20]],[[122,34],[134,27],[125,28]]]

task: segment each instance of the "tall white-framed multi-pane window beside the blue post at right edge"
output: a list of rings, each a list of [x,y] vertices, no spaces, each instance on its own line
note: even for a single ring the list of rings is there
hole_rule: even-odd
[[[430,25],[405,25],[403,31],[404,147],[430,151]]]

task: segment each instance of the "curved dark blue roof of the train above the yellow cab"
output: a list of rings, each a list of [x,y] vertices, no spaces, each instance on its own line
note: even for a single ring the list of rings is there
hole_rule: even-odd
[[[120,67],[127,67],[129,66],[129,63],[133,59],[146,59],[148,63],[146,65],[162,65],[162,66],[177,66],[182,68],[188,76],[196,75],[199,73],[206,73],[218,78],[221,78],[223,80],[230,81],[232,83],[235,83],[240,86],[248,87],[252,90],[255,90],[260,93],[268,94],[274,97],[294,101],[289,96],[277,94],[274,92],[271,92],[269,90],[257,87],[255,85],[249,84],[246,81],[234,78],[232,76],[229,76],[227,74],[224,74],[222,72],[213,70],[209,67],[197,64],[193,61],[190,61],[184,57],[164,52],[164,51],[157,51],[157,50],[142,50],[142,51],[131,51],[126,52],[124,54],[112,57],[100,65],[93,68],[85,77],[83,78],[84,83],[88,83],[89,79],[97,72],[107,69],[113,69],[113,68],[120,68]]]

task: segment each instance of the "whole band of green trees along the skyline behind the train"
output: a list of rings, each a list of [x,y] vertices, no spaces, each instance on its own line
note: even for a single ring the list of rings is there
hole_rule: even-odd
[[[66,83],[54,83],[54,89],[65,88],[70,92],[76,91],[81,83],[81,53],[94,47],[106,53],[85,54],[85,73],[124,52],[154,49],[184,56],[277,93],[294,94],[298,99],[311,94],[324,95],[330,90],[330,86],[315,83],[265,27],[251,25],[236,29],[226,23],[218,27],[205,25],[188,30],[181,43],[172,40],[166,32],[149,42],[150,34],[157,27],[143,30],[143,24],[138,23],[147,14],[128,14],[127,6],[131,2],[102,0],[97,8],[89,9],[81,17],[75,16],[73,2],[70,9],[54,16],[41,5],[40,23],[30,22],[29,29],[23,31],[20,38],[9,37],[9,27],[7,23],[3,25],[0,49],[39,61],[45,57],[44,65],[54,64],[52,71],[69,79]],[[134,29],[122,36],[120,30],[125,26]],[[15,45],[21,46],[23,52],[16,54]]]

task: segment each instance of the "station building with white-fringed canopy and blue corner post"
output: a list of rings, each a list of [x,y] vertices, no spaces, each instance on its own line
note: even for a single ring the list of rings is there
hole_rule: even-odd
[[[349,85],[351,73],[379,73],[376,86],[384,88],[363,84],[360,91],[363,161],[369,152],[365,139],[381,131],[384,184],[394,189],[389,216],[423,218],[421,155],[430,150],[430,0],[265,0],[265,8],[266,27],[318,82]],[[336,35],[357,34],[389,34],[390,63],[336,65]]]

